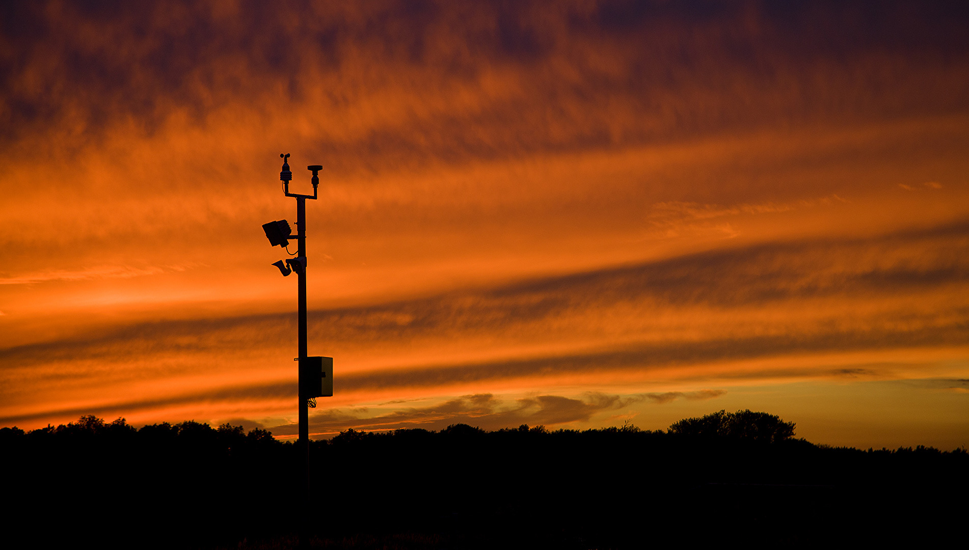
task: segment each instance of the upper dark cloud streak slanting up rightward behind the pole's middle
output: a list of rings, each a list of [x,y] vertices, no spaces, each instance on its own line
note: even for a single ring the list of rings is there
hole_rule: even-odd
[[[714,310],[768,308],[789,303],[868,294],[880,302],[897,296],[903,308],[897,315],[914,323],[905,330],[889,329],[889,320],[866,320],[860,314],[855,332],[872,334],[889,329],[889,338],[922,327],[935,330],[947,342],[945,326],[958,333],[959,319],[969,304],[953,299],[952,291],[969,280],[969,226],[958,224],[869,239],[816,240],[715,251],[672,260],[650,261],[548,277],[482,290],[463,290],[427,298],[311,312],[310,330],[331,343],[372,340],[413,340],[448,337],[452,333],[505,333],[529,324],[547,326],[555,319],[583,317],[599,308],[628,308],[627,315],[669,307],[700,306]],[[904,297],[941,293],[949,303],[952,321],[932,310],[920,318]],[[891,301],[888,302],[891,304]],[[888,307],[891,311],[891,305]],[[711,312],[712,313],[712,312]],[[882,316],[886,312],[878,311]],[[171,349],[206,351],[266,346],[290,338],[291,314],[245,316],[203,321],[144,323],[78,341],[46,342],[0,351],[7,360],[30,360],[43,350],[50,358],[105,358],[109,348],[130,342],[142,351]],[[916,321],[922,319],[920,321]],[[633,319],[624,320],[641,323]],[[742,321],[742,320],[737,320]],[[874,323],[868,325],[867,323]],[[938,322],[942,322],[939,325]],[[954,324],[948,324],[954,322]],[[879,325],[884,326],[880,328]],[[639,328],[641,324],[637,324]],[[802,326],[796,325],[801,336]],[[838,328],[840,330],[840,328]],[[913,332],[912,329],[915,331]],[[811,331],[813,332],[813,331]],[[823,332],[822,332],[823,333]],[[805,336],[806,337],[806,336]],[[871,338],[878,338],[872,336]],[[916,340],[922,338],[913,336]],[[851,338],[845,336],[845,341]],[[862,341],[868,341],[867,337]]]

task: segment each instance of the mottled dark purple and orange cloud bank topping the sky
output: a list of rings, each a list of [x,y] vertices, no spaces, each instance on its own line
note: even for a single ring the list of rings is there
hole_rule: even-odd
[[[922,5],[230,5],[8,4],[4,138],[296,112],[341,172],[947,112],[969,82],[966,15]]]

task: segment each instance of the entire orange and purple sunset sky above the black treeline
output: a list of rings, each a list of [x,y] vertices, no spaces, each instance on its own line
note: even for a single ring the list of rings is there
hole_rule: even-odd
[[[0,425],[969,445],[965,2],[5,2]],[[295,247],[291,246],[295,251]]]

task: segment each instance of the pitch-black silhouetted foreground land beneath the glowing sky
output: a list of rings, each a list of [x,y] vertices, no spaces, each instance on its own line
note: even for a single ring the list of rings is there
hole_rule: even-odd
[[[296,547],[297,447],[186,422],[0,430],[8,547]],[[314,442],[314,548],[807,546],[961,537],[964,449],[636,429],[347,432]]]

